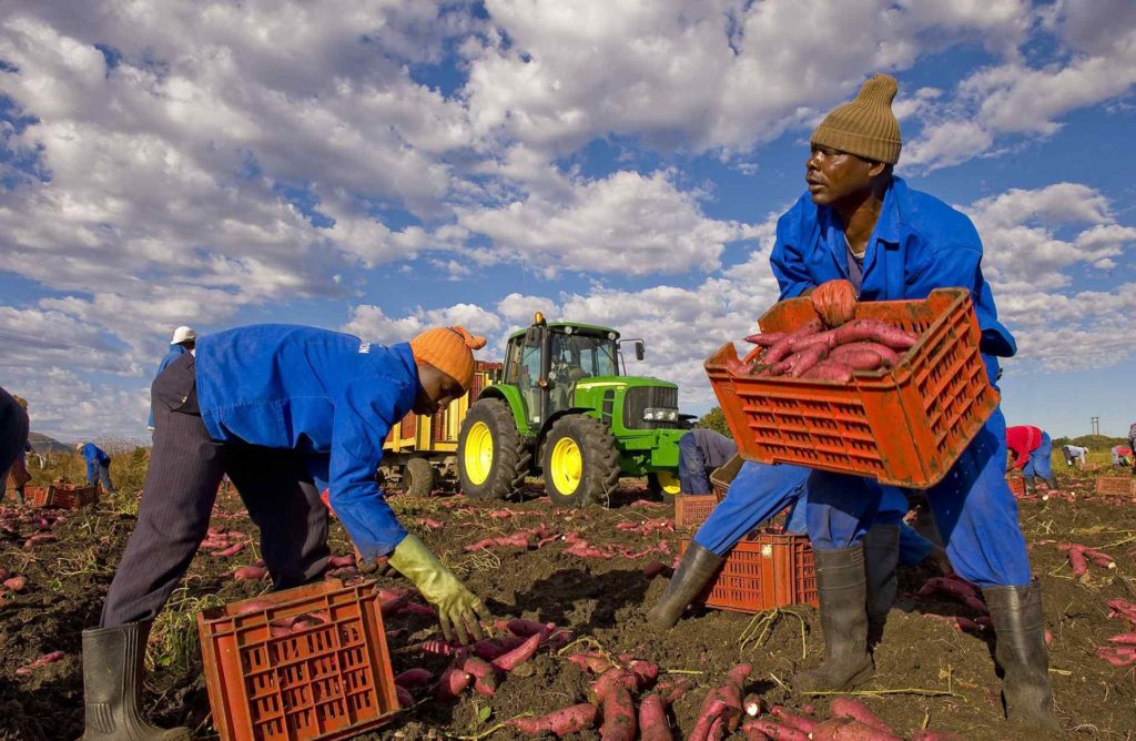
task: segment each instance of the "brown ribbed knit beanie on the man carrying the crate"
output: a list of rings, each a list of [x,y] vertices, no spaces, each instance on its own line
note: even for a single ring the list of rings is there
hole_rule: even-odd
[[[813,147],[829,147],[876,163],[900,160],[900,122],[892,113],[899,85],[895,77],[876,75],[863,83],[860,94],[838,106],[812,132]]]

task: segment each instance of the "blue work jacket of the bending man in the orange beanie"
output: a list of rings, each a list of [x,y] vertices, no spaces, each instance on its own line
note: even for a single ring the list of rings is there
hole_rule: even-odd
[[[375,472],[391,426],[420,388],[410,345],[390,348],[285,324],[198,340],[198,406],[209,436],[306,455],[365,559],[402,542]]]

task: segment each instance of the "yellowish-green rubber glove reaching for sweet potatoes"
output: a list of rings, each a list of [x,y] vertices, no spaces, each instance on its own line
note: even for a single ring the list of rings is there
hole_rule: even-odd
[[[462,643],[469,643],[470,636],[477,640],[485,638],[481,623],[493,619],[490,611],[420,540],[414,535],[403,538],[389,563],[414,582],[423,597],[437,608],[445,640],[452,640],[454,632]]]

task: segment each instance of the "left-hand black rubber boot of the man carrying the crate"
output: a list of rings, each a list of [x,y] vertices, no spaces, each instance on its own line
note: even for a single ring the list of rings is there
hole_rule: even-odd
[[[799,692],[845,692],[871,678],[863,547],[815,551],[825,660],[796,675]]]

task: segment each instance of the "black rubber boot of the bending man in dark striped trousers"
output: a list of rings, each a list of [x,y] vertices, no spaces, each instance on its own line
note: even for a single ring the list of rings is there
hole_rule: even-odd
[[[81,741],[190,741],[189,728],[164,731],[142,719],[142,661],[149,626],[127,623],[83,631]]]

